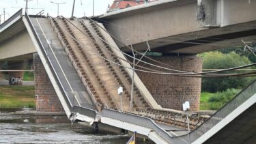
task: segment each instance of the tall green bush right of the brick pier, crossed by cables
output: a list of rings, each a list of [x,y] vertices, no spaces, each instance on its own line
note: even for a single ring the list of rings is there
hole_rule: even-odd
[[[225,69],[243,66],[251,63],[247,57],[241,57],[235,52],[223,54],[218,51],[201,54],[203,58],[203,69]],[[233,71],[234,72],[234,71]],[[231,71],[225,73],[233,73]],[[238,73],[239,71],[236,71]],[[223,72],[224,73],[224,72]],[[246,87],[253,78],[250,77],[208,77],[202,78],[202,91],[216,92],[226,89],[242,89]]]

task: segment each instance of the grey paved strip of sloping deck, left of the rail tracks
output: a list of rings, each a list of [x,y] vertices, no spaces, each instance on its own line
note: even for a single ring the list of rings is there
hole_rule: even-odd
[[[63,87],[65,87],[64,90],[68,94],[68,98],[74,102],[74,105],[78,104],[76,99],[74,99],[74,93],[72,93],[70,88],[71,86],[73,91],[75,91],[76,98],[81,106],[85,106],[89,109],[96,109],[94,103],[89,97],[89,93],[87,93],[85,87],[83,86],[81,78],[76,73],[76,70],[74,70],[66,51],[64,51],[63,46],[61,46],[55,32],[53,32],[53,27],[49,25],[49,20],[47,18],[31,18],[31,22],[33,23],[36,33],[38,33],[44,48],[46,48],[48,57],[51,57],[51,62],[53,63],[53,66],[55,66],[55,70],[59,76],[61,84]],[[51,51],[50,46],[48,46],[47,39],[51,40],[51,48],[53,51]],[[55,59],[54,55],[57,57],[57,59]],[[63,73],[66,75],[68,81]],[[70,86],[68,83],[70,83]]]

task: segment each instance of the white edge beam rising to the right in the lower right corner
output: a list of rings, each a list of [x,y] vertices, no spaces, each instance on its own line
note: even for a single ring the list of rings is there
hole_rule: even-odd
[[[229,124],[233,119],[235,119],[236,117],[238,117],[238,115],[240,115],[241,113],[243,113],[244,111],[246,111],[246,109],[248,109],[250,106],[252,106],[253,104],[255,104],[256,102],[256,94],[254,94],[251,98],[249,98],[248,100],[246,100],[246,102],[244,102],[243,104],[241,104],[240,106],[238,106],[237,109],[235,109],[234,111],[232,111],[229,115],[227,115],[227,117],[225,117],[222,121],[218,122],[218,124],[216,124],[213,128],[211,128],[210,130],[208,130],[208,132],[205,132],[205,134],[203,134],[202,136],[199,137],[199,139],[197,139],[196,141],[193,142],[193,144],[197,144],[197,143],[204,143],[205,141],[207,141],[208,139],[210,139],[210,137],[212,137],[214,134],[216,134],[219,130],[221,130],[222,128],[224,128],[225,126],[227,126],[227,124]]]

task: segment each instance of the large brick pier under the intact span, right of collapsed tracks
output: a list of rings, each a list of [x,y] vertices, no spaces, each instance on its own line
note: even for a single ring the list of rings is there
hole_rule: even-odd
[[[184,71],[201,72],[202,70],[201,58],[196,56],[164,56],[152,58]],[[159,63],[147,59],[143,60],[159,65]],[[142,65],[143,63],[140,64]],[[154,68],[155,70],[163,70],[149,65],[143,64],[143,66]],[[190,102],[190,110],[199,110],[201,78],[150,74],[145,72],[137,72],[137,74],[150,93],[152,93],[156,102],[162,107],[182,110],[182,103],[188,100]]]

